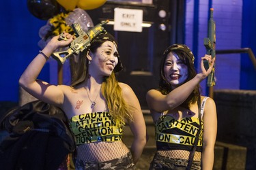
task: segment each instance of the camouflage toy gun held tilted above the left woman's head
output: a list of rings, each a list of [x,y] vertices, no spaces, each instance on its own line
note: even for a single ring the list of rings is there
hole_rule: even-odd
[[[68,57],[70,57],[73,53],[79,54],[79,52],[83,52],[83,50],[89,48],[91,46],[91,41],[97,37],[100,33],[106,32],[106,30],[102,27],[102,25],[109,22],[109,20],[104,20],[100,24],[97,24],[95,27],[89,29],[86,33],[81,29],[79,23],[74,23],[71,25],[74,33],[76,34],[76,39],[74,39],[70,48],[66,51],[54,52],[53,58],[57,60],[59,64],[62,64],[66,61]],[[66,40],[62,37],[62,34],[59,36],[59,40]]]

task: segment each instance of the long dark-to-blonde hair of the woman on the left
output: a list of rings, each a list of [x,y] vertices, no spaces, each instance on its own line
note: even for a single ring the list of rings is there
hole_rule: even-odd
[[[96,39],[91,43],[89,50],[91,52],[96,52],[97,48],[100,47],[106,39]],[[83,83],[88,78],[88,60],[86,57],[87,50],[79,54],[79,56],[70,57],[70,69],[72,75],[72,82],[70,86],[77,86]],[[77,57],[78,61],[75,61],[74,57]],[[120,62],[120,61],[119,61]],[[119,65],[122,63],[119,63]],[[117,66],[116,66],[117,67]],[[117,67],[117,69],[119,69]],[[114,69],[115,71],[115,69]],[[106,99],[106,105],[109,108],[109,113],[115,120],[121,121],[125,120],[132,121],[132,109],[134,107],[128,105],[122,96],[122,88],[119,86],[118,81],[115,78],[114,71],[109,77],[105,77],[102,82],[101,92]]]

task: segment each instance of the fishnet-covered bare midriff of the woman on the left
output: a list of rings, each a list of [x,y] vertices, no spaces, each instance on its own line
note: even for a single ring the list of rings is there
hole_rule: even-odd
[[[122,141],[94,142],[77,148],[77,158],[85,162],[103,162],[120,158],[129,152]]]

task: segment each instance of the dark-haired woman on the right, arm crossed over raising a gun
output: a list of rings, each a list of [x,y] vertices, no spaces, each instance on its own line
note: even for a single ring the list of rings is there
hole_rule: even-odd
[[[203,60],[210,63],[208,70]],[[157,89],[147,92],[156,127],[156,154],[150,169],[212,169],[217,118],[214,100],[200,95],[199,83],[212,71],[215,59],[201,58],[201,73],[184,44],[163,54]]]

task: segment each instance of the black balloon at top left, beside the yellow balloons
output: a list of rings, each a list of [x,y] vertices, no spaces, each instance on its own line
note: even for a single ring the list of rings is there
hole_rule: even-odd
[[[48,20],[61,11],[55,0],[27,0],[27,8],[33,16],[41,20]]]

